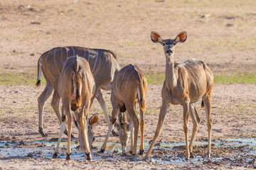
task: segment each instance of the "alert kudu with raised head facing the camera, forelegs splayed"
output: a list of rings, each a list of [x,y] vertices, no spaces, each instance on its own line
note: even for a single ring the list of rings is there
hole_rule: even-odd
[[[164,47],[166,55],[166,78],[161,90],[162,106],[159,113],[159,121],[156,127],[153,141],[146,153],[144,159],[148,159],[157,137],[164,125],[167,109],[171,104],[183,106],[183,131],[186,140],[186,159],[189,159],[190,153],[193,152],[193,142],[196,137],[201,118],[199,117],[196,103],[202,98],[202,108],[206,111],[206,120],[208,126],[208,157],[210,157],[210,141],[211,141],[211,97],[213,91],[213,73],[201,60],[190,59],[183,63],[174,63],[174,50],[178,42],[185,42],[187,33],[185,31],[178,33],[174,40],[163,40],[159,33],[151,32],[151,40],[159,42]],[[205,106],[205,107],[204,107]],[[188,146],[188,115],[191,116],[193,122],[193,132],[191,141]]]

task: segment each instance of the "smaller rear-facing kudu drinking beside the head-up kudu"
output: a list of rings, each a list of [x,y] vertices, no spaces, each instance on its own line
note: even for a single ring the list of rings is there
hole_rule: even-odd
[[[124,113],[127,111],[127,116],[131,122],[131,151],[133,155],[137,154],[137,140],[139,135],[139,125],[142,133],[141,137],[141,145],[139,147],[139,154],[143,154],[144,145],[143,145],[143,137],[144,137],[144,112],[146,108],[146,77],[137,67],[132,64],[127,65],[120,69],[118,74],[114,76],[113,84],[112,84],[112,94],[111,94],[111,103],[113,106],[112,109],[112,120],[110,124],[109,131],[107,133],[107,137],[105,138],[105,142],[103,143],[100,152],[104,152],[107,146],[107,140],[110,137],[110,132],[112,131],[113,125],[117,120],[117,113]],[[140,122],[139,118],[135,111],[136,103],[139,103],[139,112],[140,112]],[[121,114],[120,113],[120,114]],[[126,126],[127,127],[127,126]],[[122,128],[122,127],[121,127]],[[134,132],[133,132],[134,128]],[[124,128],[125,130],[125,128]],[[128,130],[126,130],[128,131]],[[126,137],[126,135],[122,135],[119,133],[121,137]],[[120,137],[120,138],[121,138]],[[134,138],[134,139],[133,139]],[[121,140],[122,142],[122,140]],[[126,145],[122,143],[122,149]]]

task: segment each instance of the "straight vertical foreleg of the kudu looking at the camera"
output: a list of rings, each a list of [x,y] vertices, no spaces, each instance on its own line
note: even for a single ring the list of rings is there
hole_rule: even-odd
[[[188,150],[188,115],[189,115],[189,102],[183,103],[183,131],[186,141],[186,159],[189,159],[190,153]]]

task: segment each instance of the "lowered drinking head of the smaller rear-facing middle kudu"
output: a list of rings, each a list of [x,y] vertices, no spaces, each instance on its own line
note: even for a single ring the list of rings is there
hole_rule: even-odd
[[[119,134],[119,142],[122,146],[122,152],[125,152],[131,129],[129,122],[127,121],[127,113],[120,112],[118,117],[119,123],[117,123],[116,127]]]

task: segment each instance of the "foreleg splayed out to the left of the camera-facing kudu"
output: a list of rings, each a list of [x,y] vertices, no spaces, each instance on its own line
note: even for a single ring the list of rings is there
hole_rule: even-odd
[[[157,140],[157,137],[159,137],[161,129],[164,125],[164,119],[166,118],[166,113],[167,113],[167,109],[169,108],[169,106],[170,106],[169,102],[167,100],[164,101],[164,99],[163,99],[163,104],[162,104],[161,109],[160,109],[159,121],[157,123],[156,132],[154,134],[154,138],[151,142],[151,145],[149,147],[148,152],[146,152],[146,155],[145,155],[144,159],[149,159],[149,156],[152,152],[152,149],[153,149],[154,144]]]

